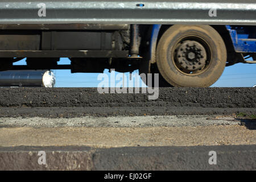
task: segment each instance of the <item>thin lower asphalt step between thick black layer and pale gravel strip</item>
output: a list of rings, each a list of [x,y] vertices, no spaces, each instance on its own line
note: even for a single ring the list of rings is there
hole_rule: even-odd
[[[243,113],[247,116],[256,113],[256,108],[218,107],[0,107],[1,117],[111,117],[141,115],[231,115]]]

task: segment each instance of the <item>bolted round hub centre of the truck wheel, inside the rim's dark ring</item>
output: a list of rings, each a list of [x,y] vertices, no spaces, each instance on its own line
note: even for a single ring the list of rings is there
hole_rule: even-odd
[[[205,48],[196,41],[186,40],[177,48],[177,62],[187,71],[196,71],[204,67],[207,61]]]

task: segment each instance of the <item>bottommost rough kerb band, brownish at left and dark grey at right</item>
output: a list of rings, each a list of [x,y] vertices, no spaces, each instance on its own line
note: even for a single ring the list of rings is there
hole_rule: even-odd
[[[38,164],[46,152],[47,167]],[[217,164],[209,164],[210,151]],[[256,146],[0,147],[0,170],[255,170]]]

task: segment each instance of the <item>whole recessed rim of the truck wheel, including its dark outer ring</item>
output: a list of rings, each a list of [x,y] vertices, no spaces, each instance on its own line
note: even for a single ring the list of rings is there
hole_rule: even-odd
[[[187,76],[200,75],[211,64],[212,54],[208,43],[199,36],[181,38],[171,51],[176,69]]]

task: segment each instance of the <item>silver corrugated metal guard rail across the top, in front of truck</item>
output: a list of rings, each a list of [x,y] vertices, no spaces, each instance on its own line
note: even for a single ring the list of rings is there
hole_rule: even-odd
[[[42,3],[46,7],[44,12]],[[256,25],[256,2],[255,0],[0,1],[0,24],[54,23]]]

